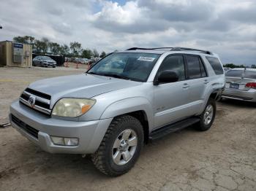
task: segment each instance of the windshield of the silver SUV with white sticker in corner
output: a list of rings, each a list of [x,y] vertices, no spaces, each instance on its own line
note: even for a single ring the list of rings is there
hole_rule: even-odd
[[[88,74],[146,82],[159,54],[115,52],[100,60]]]

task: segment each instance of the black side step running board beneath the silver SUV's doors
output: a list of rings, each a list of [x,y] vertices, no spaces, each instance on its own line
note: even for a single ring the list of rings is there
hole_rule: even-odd
[[[165,125],[162,128],[153,130],[149,135],[149,139],[151,140],[159,139],[162,136],[166,136],[169,133],[173,133],[177,130],[187,128],[188,126],[195,124],[196,122],[199,122],[199,121],[200,121],[199,117],[190,117],[186,120],[181,120],[170,125]]]

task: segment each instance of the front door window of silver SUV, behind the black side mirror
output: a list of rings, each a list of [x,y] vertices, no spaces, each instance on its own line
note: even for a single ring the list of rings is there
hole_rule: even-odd
[[[185,79],[185,68],[183,55],[170,55],[162,61],[159,67],[158,74],[161,71],[172,70],[178,73],[178,81]]]

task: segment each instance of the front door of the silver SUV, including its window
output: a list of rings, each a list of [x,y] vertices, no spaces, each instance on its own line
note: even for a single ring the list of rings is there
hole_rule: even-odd
[[[187,117],[189,87],[185,76],[184,55],[169,55],[162,61],[161,71],[178,73],[178,82],[154,85],[154,127],[159,128],[170,122]]]

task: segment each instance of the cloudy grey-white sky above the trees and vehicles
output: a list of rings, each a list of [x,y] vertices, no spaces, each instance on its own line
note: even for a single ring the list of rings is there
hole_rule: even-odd
[[[101,52],[191,47],[256,64],[256,0],[0,0],[0,41],[80,42]]]

